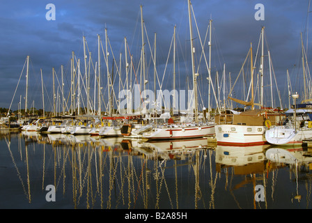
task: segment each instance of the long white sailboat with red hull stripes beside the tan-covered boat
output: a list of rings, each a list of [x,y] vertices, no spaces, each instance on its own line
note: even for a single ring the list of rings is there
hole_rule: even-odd
[[[192,75],[194,86],[194,120],[190,122],[175,123],[173,118],[169,118],[168,123],[162,125],[153,124],[153,128],[146,128],[142,132],[142,137],[145,139],[190,139],[201,138],[207,136],[214,136],[214,123],[199,122],[198,121],[198,103],[197,103],[197,80],[198,73],[195,72],[194,66],[194,46],[192,33],[192,15],[191,15],[191,1],[188,2],[189,13],[189,35],[191,43],[192,56]]]

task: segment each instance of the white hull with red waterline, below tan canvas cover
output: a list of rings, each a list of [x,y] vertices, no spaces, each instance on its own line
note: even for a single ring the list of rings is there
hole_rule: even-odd
[[[263,125],[215,125],[218,145],[257,146],[267,144]]]

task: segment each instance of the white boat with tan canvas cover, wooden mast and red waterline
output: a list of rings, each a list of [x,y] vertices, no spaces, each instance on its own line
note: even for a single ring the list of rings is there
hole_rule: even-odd
[[[261,30],[262,40],[263,30],[264,27]],[[252,60],[252,46],[249,49],[249,53],[251,61],[251,100],[249,102],[245,102],[231,97],[228,98],[244,105],[245,107],[251,106],[251,110],[241,112],[240,114],[227,114],[226,112],[215,116],[215,133],[217,143],[219,145],[256,146],[267,144],[267,140],[265,139],[265,130],[272,126],[279,125],[285,116],[279,112],[279,109],[263,108],[263,89],[261,89],[260,109],[254,108],[254,105],[259,104],[256,104],[253,98],[254,66]],[[261,77],[263,77],[263,50],[260,63],[260,73]]]

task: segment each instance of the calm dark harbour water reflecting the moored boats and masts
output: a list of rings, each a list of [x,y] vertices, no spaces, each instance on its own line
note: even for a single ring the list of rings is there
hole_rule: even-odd
[[[1,132],[0,208],[312,208],[311,155],[207,139]],[[47,201],[47,185],[56,188],[55,201]]]

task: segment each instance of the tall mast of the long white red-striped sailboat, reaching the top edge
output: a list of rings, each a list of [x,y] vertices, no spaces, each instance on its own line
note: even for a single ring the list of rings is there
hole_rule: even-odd
[[[193,35],[192,35],[192,15],[191,15],[191,1],[187,1],[189,9],[189,36],[191,41],[191,50],[192,50],[192,75],[193,75],[193,86],[194,86],[194,116],[195,121],[198,122],[198,105],[197,105],[197,83],[196,83],[196,73],[195,73],[195,64],[194,64],[194,51],[193,47]]]

